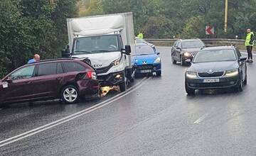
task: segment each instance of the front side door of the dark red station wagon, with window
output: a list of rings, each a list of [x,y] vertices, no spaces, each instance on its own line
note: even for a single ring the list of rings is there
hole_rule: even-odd
[[[9,74],[6,79],[3,80],[0,89],[0,92],[4,93],[0,95],[2,101],[12,102],[33,99],[32,82],[35,74],[35,67],[35,65],[21,67]]]

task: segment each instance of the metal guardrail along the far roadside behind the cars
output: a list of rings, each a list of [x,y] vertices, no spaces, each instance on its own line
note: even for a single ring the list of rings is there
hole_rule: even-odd
[[[154,39],[154,38],[146,38],[147,42],[155,44],[155,45],[173,45],[174,42],[178,39]],[[225,38],[202,38],[201,39],[206,45],[235,45],[235,46],[243,46],[245,40],[238,39],[225,39]]]

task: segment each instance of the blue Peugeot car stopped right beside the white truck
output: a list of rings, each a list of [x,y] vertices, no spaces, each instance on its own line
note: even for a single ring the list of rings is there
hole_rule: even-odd
[[[136,57],[134,57],[134,65],[137,74],[154,73],[161,76],[161,58],[159,52],[156,52],[150,45],[137,44]]]

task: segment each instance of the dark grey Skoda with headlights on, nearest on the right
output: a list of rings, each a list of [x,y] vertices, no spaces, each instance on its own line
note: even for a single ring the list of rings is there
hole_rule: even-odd
[[[185,88],[187,94],[196,89],[234,88],[242,91],[247,84],[246,57],[233,47],[204,48],[197,52],[186,70]]]

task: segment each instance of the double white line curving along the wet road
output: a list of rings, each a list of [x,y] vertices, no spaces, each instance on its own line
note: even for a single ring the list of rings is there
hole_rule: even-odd
[[[33,129],[33,130],[29,130],[29,131],[27,131],[27,132],[25,132],[25,133],[21,133],[20,135],[16,135],[16,136],[11,137],[11,138],[8,138],[8,139],[6,139],[6,140],[1,140],[1,141],[0,141],[0,147],[3,147],[3,146],[5,146],[5,145],[9,145],[10,143],[14,143],[14,142],[16,142],[16,141],[18,141],[18,140],[22,140],[23,138],[28,138],[28,137],[31,136],[31,135],[35,135],[35,134],[40,133],[40,132],[42,132],[42,131],[44,131],[44,130],[48,130],[48,129],[53,128],[53,127],[55,127],[55,126],[58,126],[58,125],[60,125],[60,124],[62,124],[62,123],[66,123],[66,122],[71,121],[71,120],[73,120],[73,119],[75,119],[75,118],[78,118],[78,117],[80,117],[80,116],[83,116],[83,115],[85,115],[85,114],[87,114],[87,113],[90,113],[90,112],[92,112],[92,111],[95,111],[95,110],[97,110],[97,109],[99,109],[99,108],[102,108],[102,107],[104,107],[104,106],[107,106],[107,105],[109,105],[109,104],[112,104],[112,102],[117,101],[118,99],[121,99],[122,97],[126,96],[127,94],[132,93],[132,91],[135,91],[135,90],[139,89],[140,87],[142,87],[143,84],[146,83],[146,81],[148,81],[149,79],[151,79],[151,77],[149,77],[149,78],[147,78],[147,79],[146,79],[146,77],[145,77],[144,79],[142,79],[142,80],[138,83],[139,85],[134,86],[134,87],[131,87],[131,88],[127,89],[127,91],[125,91],[125,92],[123,92],[123,93],[121,93],[121,94],[118,94],[118,95],[116,95],[116,96],[113,96],[112,98],[107,99],[106,101],[102,101],[102,102],[100,102],[100,104],[96,104],[95,106],[92,106],[92,107],[90,107],[90,108],[86,108],[86,109],[84,109],[84,110],[82,110],[82,111],[79,111],[79,112],[77,112],[77,113],[73,113],[73,114],[70,115],[70,116],[67,116],[67,117],[65,117],[65,118],[61,118],[60,120],[54,121],[54,122],[52,122],[52,123],[48,123],[48,124],[46,124],[45,126],[41,126],[41,127],[35,128],[35,129]]]

